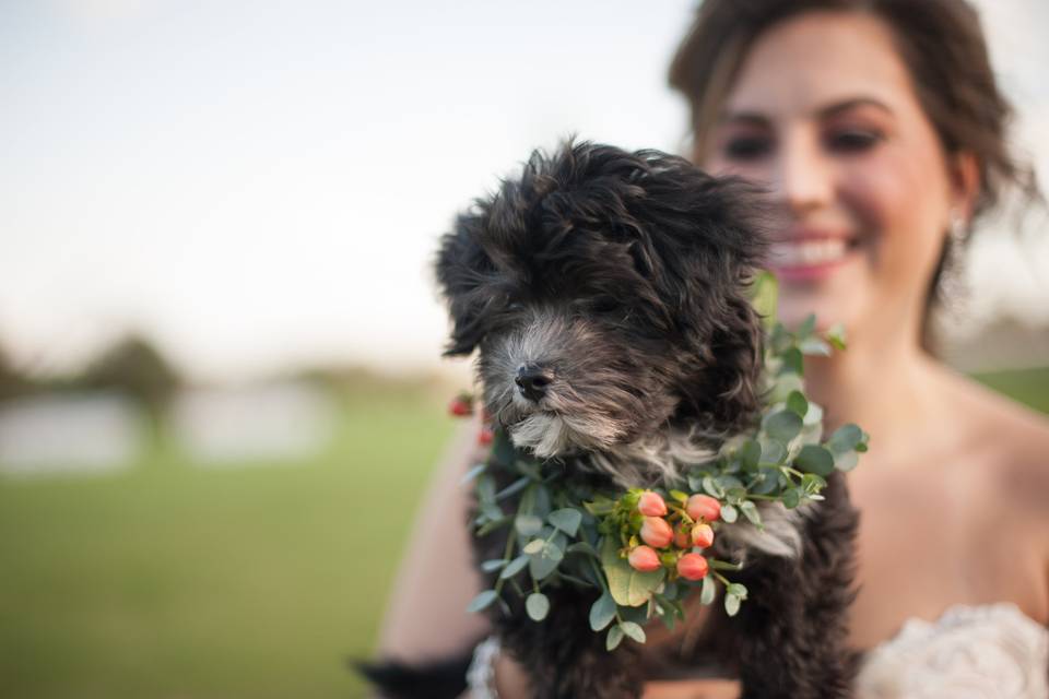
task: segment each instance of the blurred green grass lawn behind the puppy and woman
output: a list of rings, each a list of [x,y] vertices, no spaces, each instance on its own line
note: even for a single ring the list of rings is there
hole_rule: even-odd
[[[1049,369],[979,377],[1049,412]],[[0,479],[0,696],[357,697],[429,470],[455,424],[346,400],[310,463]]]

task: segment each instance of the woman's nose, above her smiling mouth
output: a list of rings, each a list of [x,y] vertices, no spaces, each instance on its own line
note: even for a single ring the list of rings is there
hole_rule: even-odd
[[[780,142],[773,192],[794,215],[826,206],[834,194],[830,164],[813,134],[798,132]]]

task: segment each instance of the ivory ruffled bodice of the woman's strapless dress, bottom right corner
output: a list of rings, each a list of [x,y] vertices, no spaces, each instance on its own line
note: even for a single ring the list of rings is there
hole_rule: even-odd
[[[1049,629],[1015,604],[908,619],[864,659],[858,699],[1046,699]]]

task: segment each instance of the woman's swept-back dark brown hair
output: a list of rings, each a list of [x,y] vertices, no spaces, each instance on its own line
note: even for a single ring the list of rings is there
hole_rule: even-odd
[[[688,99],[697,156],[732,88],[747,51],[766,29],[811,11],[867,12],[889,27],[907,66],[919,104],[947,154],[970,152],[980,189],[974,218],[998,205],[1005,191],[1040,199],[1034,170],[1010,152],[1006,131],[1013,116],[994,81],[979,16],[965,0],[705,0],[670,67],[670,84]],[[957,257],[944,244],[929,288],[929,310],[947,261]]]

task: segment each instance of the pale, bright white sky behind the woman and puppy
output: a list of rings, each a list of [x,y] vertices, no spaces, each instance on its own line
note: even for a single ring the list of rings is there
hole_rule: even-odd
[[[1049,173],[1049,3],[979,4]],[[205,380],[435,367],[456,211],[569,133],[681,151],[693,7],[0,0],[0,345],[44,372],[129,330]],[[985,236],[977,316],[1049,324],[1046,237]]]

